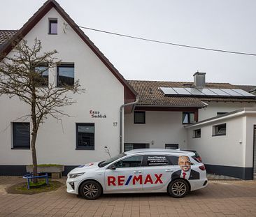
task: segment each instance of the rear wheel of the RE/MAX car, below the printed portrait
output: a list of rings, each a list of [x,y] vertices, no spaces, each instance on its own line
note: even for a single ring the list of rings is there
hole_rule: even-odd
[[[189,190],[189,186],[187,184],[187,181],[183,179],[176,179],[174,181],[171,181],[169,184],[167,191],[171,197],[184,197]]]

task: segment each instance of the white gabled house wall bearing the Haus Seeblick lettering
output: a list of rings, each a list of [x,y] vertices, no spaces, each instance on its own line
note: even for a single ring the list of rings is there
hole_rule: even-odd
[[[49,18],[58,20],[57,35],[48,34]],[[74,96],[77,103],[63,108],[64,113],[71,117],[62,117],[62,122],[50,117],[45,120],[38,130],[36,150],[38,163],[81,165],[108,158],[105,146],[113,155],[120,152],[119,110],[124,104],[124,86],[69,25],[63,30],[63,23],[66,21],[52,8],[24,39],[32,45],[38,38],[43,46],[42,52],[57,50],[57,57],[63,63],[74,63],[75,80],[79,79],[81,88],[86,90]],[[49,72],[49,82],[55,80],[56,68]],[[11,122],[29,122],[29,119],[18,119],[29,114],[29,108],[17,98],[5,96],[1,96],[0,105],[0,165],[31,164],[31,150],[11,149]],[[106,118],[92,118],[90,110],[106,114]],[[118,124],[114,126],[113,122]],[[76,123],[95,124],[94,151],[76,150]]]

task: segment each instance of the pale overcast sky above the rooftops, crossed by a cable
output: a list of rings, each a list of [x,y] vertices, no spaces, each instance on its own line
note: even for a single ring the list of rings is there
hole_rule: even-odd
[[[256,54],[255,0],[57,0],[83,27]],[[2,1],[0,29],[20,29],[42,0]],[[256,57],[149,43],[83,29],[127,80],[256,85]]]

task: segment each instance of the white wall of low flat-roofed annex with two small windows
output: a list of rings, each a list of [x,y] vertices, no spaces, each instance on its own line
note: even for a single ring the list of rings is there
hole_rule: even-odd
[[[215,136],[213,128],[220,124],[226,124],[226,133]],[[253,173],[254,167],[255,126],[255,108],[244,108],[225,117],[201,121],[186,127],[187,149],[199,150],[206,165],[240,168],[241,172],[245,170],[245,174],[237,175],[249,177],[248,172]],[[198,129],[201,137],[194,137],[193,131]]]

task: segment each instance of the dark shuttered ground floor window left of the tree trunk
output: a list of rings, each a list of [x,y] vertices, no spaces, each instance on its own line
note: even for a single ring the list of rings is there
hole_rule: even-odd
[[[13,149],[30,149],[29,123],[13,123]]]

